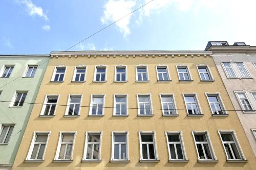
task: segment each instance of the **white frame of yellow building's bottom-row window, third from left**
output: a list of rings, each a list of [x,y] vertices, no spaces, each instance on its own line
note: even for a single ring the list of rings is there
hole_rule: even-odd
[[[88,144],[95,144],[95,142],[88,142],[88,138],[90,134],[97,134],[99,136],[99,142],[96,144],[99,144],[99,153],[98,153],[98,159],[87,159],[87,148]],[[102,131],[86,131],[86,141],[84,142],[84,150],[83,150],[83,157],[82,162],[100,162],[101,161],[101,141],[102,141]],[[93,155],[93,154],[92,154]]]

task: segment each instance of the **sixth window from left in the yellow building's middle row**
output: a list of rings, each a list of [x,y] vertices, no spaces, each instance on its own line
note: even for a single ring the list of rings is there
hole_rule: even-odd
[[[173,94],[160,94],[163,115],[176,115]]]

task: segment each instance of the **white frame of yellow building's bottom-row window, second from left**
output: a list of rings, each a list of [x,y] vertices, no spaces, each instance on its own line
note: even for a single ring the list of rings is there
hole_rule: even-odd
[[[62,139],[63,135],[74,135],[73,143],[72,143],[73,146],[72,146],[70,159],[59,159],[59,153],[60,153],[60,148],[61,148],[61,139]],[[75,147],[75,139],[76,139],[76,131],[61,131],[61,132],[59,132],[59,140],[58,140],[58,146],[57,146],[56,154],[55,154],[55,157],[54,157],[54,162],[72,162],[73,161],[73,152],[74,152],[74,147]],[[66,143],[66,144],[68,144],[68,143]],[[66,155],[66,154],[64,154],[64,155]]]

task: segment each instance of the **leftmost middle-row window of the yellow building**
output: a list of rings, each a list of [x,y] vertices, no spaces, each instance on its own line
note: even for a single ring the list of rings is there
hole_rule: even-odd
[[[42,105],[41,116],[55,115],[58,97],[58,95],[46,95],[44,105]]]

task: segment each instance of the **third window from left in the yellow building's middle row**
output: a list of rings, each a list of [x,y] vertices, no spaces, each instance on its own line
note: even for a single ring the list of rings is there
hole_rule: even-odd
[[[105,94],[92,95],[89,115],[104,115]]]

